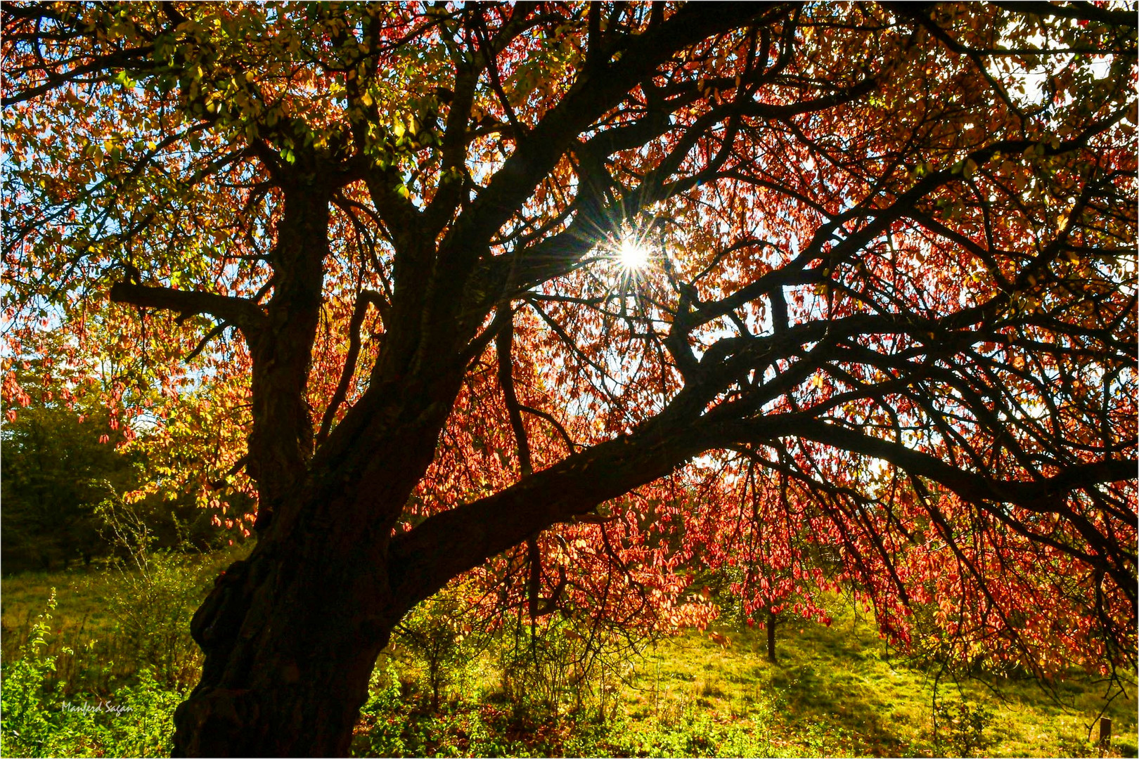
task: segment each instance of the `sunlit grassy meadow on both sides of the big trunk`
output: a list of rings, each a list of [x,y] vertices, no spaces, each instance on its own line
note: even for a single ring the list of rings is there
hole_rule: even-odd
[[[173,709],[199,666],[189,614],[233,558],[155,554],[133,568],[3,578],[3,756],[166,756]],[[777,663],[763,630],[714,626],[639,655],[615,649],[575,679],[566,676],[577,643],[570,628],[554,626],[535,644],[459,636],[434,670],[412,638],[398,638],[377,665],[353,752],[1093,757],[1106,706],[1107,754],[1137,753],[1134,686],[1105,704],[1106,686],[1082,673],[1050,691],[942,677],[935,734],[936,671],[841,602],[835,612],[830,627],[780,627]]]

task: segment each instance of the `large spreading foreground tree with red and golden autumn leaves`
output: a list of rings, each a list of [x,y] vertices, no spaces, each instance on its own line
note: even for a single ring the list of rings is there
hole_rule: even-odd
[[[1034,667],[1134,661],[1131,10],[3,31],[9,354],[100,322],[130,391],[181,350],[246,414],[257,544],[195,614],[178,753],[346,752],[393,626],[514,546],[532,614],[601,567],[682,593],[753,463],[899,634],[925,601]]]

